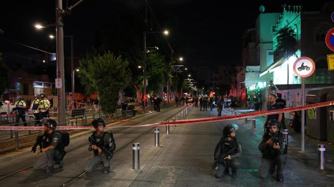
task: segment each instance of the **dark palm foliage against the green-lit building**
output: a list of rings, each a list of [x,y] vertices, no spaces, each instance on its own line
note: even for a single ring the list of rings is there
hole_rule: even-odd
[[[278,30],[275,34],[277,40],[277,51],[286,53],[287,58],[296,56],[296,33],[293,28],[286,26]],[[298,58],[298,57],[297,57]]]

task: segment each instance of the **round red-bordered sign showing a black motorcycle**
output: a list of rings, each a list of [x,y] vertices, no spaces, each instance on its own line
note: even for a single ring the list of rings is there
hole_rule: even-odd
[[[299,77],[308,77],[316,70],[315,62],[308,57],[300,57],[294,63],[294,72]]]

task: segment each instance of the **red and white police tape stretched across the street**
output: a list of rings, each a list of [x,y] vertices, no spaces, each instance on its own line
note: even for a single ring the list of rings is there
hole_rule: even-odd
[[[124,127],[157,127],[157,126],[166,126],[166,125],[183,125],[183,124],[196,124],[196,123],[207,123],[207,122],[216,122],[216,121],[225,121],[225,120],[236,120],[236,119],[243,119],[248,117],[256,117],[256,116],[263,116],[263,115],[270,115],[270,114],[277,114],[277,113],[285,113],[285,112],[292,112],[298,110],[306,110],[310,108],[319,108],[324,106],[334,105],[334,101],[328,101],[323,103],[317,104],[310,104],[305,106],[298,106],[293,108],[284,108],[279,110],[264,110],[264,111],[256,111],[256,112],[249,112],[245,114],[238,114],[238,115],[225,115],[225,116],[216,116],[216,117],[208,117],[208,118],[199,118],[199,119],[191,119],[191,120],[179,120],[175,122],[159,122],[154,124],[146,124],[146,125],[133,125],[133,126],[107,126],[106,128],[124,128]],[[130,122],[130,121],[129,121]],[[132,121],[135,122],[135,121]],[[141,121],[140,121],[141,122]],[[18,126],[0,126],[0,130],[43,130],[44,127],[18,127]],[[74,130],[74,129],[94,129],[92,126],[58,126],[57,129],[59,130]]]

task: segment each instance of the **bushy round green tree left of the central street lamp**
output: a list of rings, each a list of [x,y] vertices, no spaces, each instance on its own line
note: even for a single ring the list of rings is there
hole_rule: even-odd
[[[122,60],[121,56],[115,57],[110,52],[93,57],[88,55],[79,62],[78,76],[81,78],[81,84],[86,87],[86,92],[98,93],[103,112],[115,112],[118,93],[130,82],[129,62]]]

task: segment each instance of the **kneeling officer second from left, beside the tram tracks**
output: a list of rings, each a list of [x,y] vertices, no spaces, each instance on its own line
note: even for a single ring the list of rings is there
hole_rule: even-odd
[[[85,170],[86,172],[92,172],[99,166],[99,163],[102,162],[104,167],[103,173],[109,173],[111,156],[108,156],[103,152],[101,147],[112,153],[115,150],[113,136],[109,132],[104,132],[106,123],[102,118],[93,120],[92,125],[95,128],[95,131],[89,137],[88,150],[93,151],[94,155],[92,158],[88,159]]]

